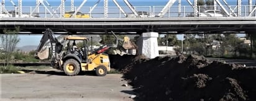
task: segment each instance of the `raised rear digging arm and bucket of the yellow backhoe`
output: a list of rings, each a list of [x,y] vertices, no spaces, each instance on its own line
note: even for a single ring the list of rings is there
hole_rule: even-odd
[[[48,39],[50,40],[50,44],[51,44],[51,48],[52,48],[52,60],[54,60],[56,58],[56,52],[57,54],[59,54],[62,51],[62,44],[58,41],[57,38],[55,38],[53,31],[50,30],[49,28],[47,28],[47,30],[45,30],[45,33],[43,34],[41,40],[40,40],[40,44],[37,47],[37,51],[36,51],[36,57],[39,59],[47,59],[48,55],[49,55],[49,51],[47,47],[45,46],[45,42],[48,41]]]

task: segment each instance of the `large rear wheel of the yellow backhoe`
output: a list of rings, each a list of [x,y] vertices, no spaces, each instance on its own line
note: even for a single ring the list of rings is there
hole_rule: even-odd
[[[68,59],[63,65],[63,70],[66,75],[75,76],[78,75],[78,73],[80,72],[80,65],[76,60]]]

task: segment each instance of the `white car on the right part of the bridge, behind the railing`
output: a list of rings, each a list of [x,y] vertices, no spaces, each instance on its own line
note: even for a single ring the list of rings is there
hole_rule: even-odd
[[[199,14],[199,17],[228,17],[221,10],[205,10]]]

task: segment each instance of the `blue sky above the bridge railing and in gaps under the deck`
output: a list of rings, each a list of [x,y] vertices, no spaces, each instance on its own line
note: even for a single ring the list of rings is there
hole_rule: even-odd
[[[14,3],[17,5],[17,0],[13,0]],[[80,6],[81,2],[83,0],[75,0],[75,6]],[[95,2],[98,0],[88,0],[85,4],[85,6],[93,6],[95,4]],[[101,0],[103,1],[103,0]],[[124,4],[124,2],[122,2],[122,0],[117,0],[121,6],[126,6],[126,4]],[[178,0],[177,0],[178,1]],[[175,2],[174,5],[177,5],[177,1]],[[35,6],[35,0],[23,0],[22,1],[22,6]],[[48,0],[48,2],[50,3],[51,6],[59,6],[60,4],[60,0]],[[133,6],[164,6],[168,0],[129,0],[129,2],[133,5]],[[183,2],[183,5],[189,5],[186,0],[182,0],[181,2]],[[193,2],[193,0],[191,0],[191,2]],[[229,4],[236,4],[236,2],[234,0],[227,0],[227,2]],[[246,2],[244,2],[246,3]],[[66,6],[70,6],[70,0],[66,1]],[[12,6],[11,2],[9,2],[8,0],[6,0],[6,6]],[[99,7],[103,7],[103,2],[100,2]],[[114,3],[109,0],[109,6],[115,6]],[[244,36],[244,34],[239,34],[239,36]],[[42,36],[40,35],[19,35],[21,41],[19,42],[19,44],[17,44],[18,47],[21,46],[37,46],[39,45],[40,39]],[[177,35],[178,39],[182,39],[182,35]]]

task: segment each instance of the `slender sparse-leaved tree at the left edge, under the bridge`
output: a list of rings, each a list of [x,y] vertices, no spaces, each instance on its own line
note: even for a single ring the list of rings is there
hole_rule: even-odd
[[[19,27],[16,30],[4,29],[3,34],[0,34],[1,47],[3,48],[3,59],[6,65],[4,68],[9,66],[9,62],[16,49],[17,43],[20,41],[17,32],[19,32]]]

